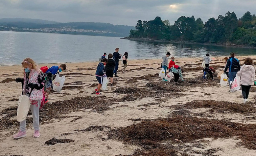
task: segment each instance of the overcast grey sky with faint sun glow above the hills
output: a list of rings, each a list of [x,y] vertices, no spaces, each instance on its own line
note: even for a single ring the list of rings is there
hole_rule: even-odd
[[[135,26],[160,16],[172,25],[180,16],[207,22],[234,11],[256,13],[256,0],[0,0],[0,18],[31,18],[57,22],[105,22]]]

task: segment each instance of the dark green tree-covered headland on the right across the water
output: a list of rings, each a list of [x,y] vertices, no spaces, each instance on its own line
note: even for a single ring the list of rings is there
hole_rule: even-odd
[[[179,17],[173,25],[168,20],[156,17],[151,21],[139,20],[136,30],[130,31],[125,39],[145,39],[163,41],[186,41],[223,45],[256,47],[256,15],[247,11],[241,18],[235,12],[219,15],[203,22],[194,16]]]

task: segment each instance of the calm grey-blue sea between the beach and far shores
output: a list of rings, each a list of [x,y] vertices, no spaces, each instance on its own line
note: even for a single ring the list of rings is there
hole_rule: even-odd
[[[167,52],[176,58],[256,55],[256,49],[215,45],[130,41],[119,37],[0,31],[0,65],[20,64],[26,57],[37,63],[98,61],[104,52],[128,52],[128,59],[160,59]]]

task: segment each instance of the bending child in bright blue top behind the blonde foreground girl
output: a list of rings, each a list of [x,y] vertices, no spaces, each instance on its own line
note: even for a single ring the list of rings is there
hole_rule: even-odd
[[[45,96],[46,103],[48,102],[48,96],[49,96],[49,92],[52,88],[52,81],[54,80],[54,75],[56,75],[58,71],[62,72],[64,70],[66,70],[66,68],[67,68],[66,64],[61,64],[60,66],[52,66],[44,74],[46,76],[45,91],[48,93]]]

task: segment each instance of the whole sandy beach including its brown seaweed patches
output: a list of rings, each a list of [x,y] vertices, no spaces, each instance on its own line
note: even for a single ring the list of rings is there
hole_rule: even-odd
[[[216,73],[223,58],[210,64]],[[242,64],[246,57],[237,58]],[[255,156],[256,87],[244,105],[241,90],[230,93],[217,77],[203,80],[200,59],[176,58],[184,69],[178,83],[158,77],[162,59],[129,60],[101,95],[94,91],[98,62],[67,63],[63,90],[51,92],[40,110],[41,136],[32,137],[29,112],[27,136],[18,140],[12,135],[22,86],[14,80],[23,69],[0,66],[0,156]]]

